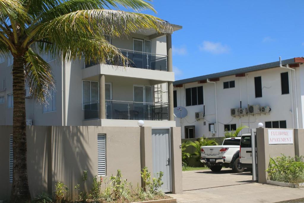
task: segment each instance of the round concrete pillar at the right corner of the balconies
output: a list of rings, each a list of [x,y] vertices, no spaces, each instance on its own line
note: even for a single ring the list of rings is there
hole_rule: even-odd
[[[173,72],[172,66],[172,39],[171,34],[166,35],[167,40],[167,69],[168,72]],[[169,121],[174,121],[174,113],[173,113],[173,82],[168,82],[168,102],[169,102]]]

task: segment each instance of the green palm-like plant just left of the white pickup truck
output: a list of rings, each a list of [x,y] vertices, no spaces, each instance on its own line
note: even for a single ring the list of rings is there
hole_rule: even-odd
[[[212,145],[218,145],[218,142],[215,139],[209,139],[205,137],[200,137],[196,141],[187,141],[186,146],[192,146],[193,147],[193,153],[190,155],[191,157],[199,160],[201,158],[201,147],[202,146],[212,146]]]

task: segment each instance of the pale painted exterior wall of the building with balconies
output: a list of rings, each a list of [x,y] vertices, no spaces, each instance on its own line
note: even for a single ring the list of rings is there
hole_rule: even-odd
[[[133,34],[130,37],[112,39],[111,42],[118,48],[133,50],[133,38],[147,39],[142,34]],[[152,53],[167,54],[166,36],[151,40]],[[56,81],[56,111],[43,113],[43,105],[36,104],[33,99],[26,98],[26,119],[33,119],[34,125],[86,125],[94,122],[84,121],[82,110],[82,80],[98,81],[99,74],[105,74],[105,81],[112,83],[112,99],[122,101],[133,101],[133,85],[149,85],[154,90],[154,85],[168,81],[174,81],[173,72],[145,70],[140,68],[113,67],[109,65],[96,65],[102,68],[85,68],[85,62],[51,61],[52,74]],[[64,80],[62,80],[64,70]],[[12,66],[7,66],[7,58],[0,63],[0,96],[5,96],[5,103],[0,104],[0,125],[12,125],[13,108],[8,108],[8,94],[12,93]],[[6,89],[2,91],[2,81],[5,80]],[[167,83],[162,85],[167,90]],[[64,103],[62,101],[64,95]],[[154,94],[152,93],[154,96]],[[167,92],[164,100],[168,101]],[[63,109],[64,108],[64,109]],[[63,113],[62,113],[63,112]],[[116,120],[116,122],[120,122]],[[120,126],[128,124],[121,121]],[[152,126],[150,121],[147,126]],[[158,121],[159,123],[160,121]],[[113,122],[109,126],[113,125]],[[129,122],[130,123],[130,122]],[[174,122],[175,123],[175,122]],[[134,125],[131,122],[130,125]],[[156,124],[159,125],[159,124]],[[164,123],[163,125],[167,125]],[[119,126],[119,124],[117,124]],[[175,126],[172,121],[168,126]],[[154,125],[155,127],[155,125]]]

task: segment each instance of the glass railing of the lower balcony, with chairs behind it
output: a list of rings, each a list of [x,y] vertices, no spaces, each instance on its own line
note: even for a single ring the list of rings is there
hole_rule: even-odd
[[[168,120],[168,103],[105,100],[106,119]],[[98,119],[99,101],[83,104],[84,120]]]

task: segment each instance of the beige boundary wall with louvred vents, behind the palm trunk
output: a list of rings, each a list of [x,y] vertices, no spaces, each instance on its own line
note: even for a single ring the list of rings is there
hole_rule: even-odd
[[[0,126],[0,200],[9,199],[9,137],[12,126]],[[152,163],[151,127],[27,126],[28,179],[32,197],[42,191],[51,193],[57,181],[74,195],[74,186],[83,187],[81,175],[88,170],[85,190],[97,175],[97,135],[106,135],[106,177],[120,169],[123,178],[141,185],[140,170]],[[172,192],[181,193],[181,135],[171,127]],[[104,184],[103,184],[104,186]]]

